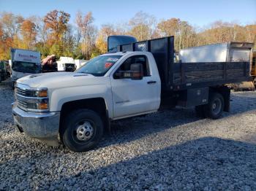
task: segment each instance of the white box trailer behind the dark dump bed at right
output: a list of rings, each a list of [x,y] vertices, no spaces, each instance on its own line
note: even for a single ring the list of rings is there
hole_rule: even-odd
[[[182,49],[178,58],[182,63],[195,62],[241,62],[250,61],[252,44],[246,42],[225,42]]]

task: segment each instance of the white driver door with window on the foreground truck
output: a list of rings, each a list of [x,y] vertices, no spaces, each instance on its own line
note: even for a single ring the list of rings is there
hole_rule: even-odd
[[[143,65],[143,78],[117,77],[118,71],[129,71],[132,63]],[[151,74],[146,55],[127,58],[115,71],[111,79],[113,93],[113,118],[121,118],[156,111],[160,103],[160,80]]]

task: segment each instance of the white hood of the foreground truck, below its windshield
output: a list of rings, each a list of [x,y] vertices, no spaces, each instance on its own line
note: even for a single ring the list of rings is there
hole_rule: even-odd
[[[29,87],[48,87],[61,88],[61,87],[74,87],[83,85],[99,84],[101,77],[94,77],[91,74],[75,73],[75,72],[50,72],[33,74],[22,77],[17,80],[18,83],[29,85]]]

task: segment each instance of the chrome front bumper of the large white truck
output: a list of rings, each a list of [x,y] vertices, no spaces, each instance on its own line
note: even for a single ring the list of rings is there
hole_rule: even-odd
[[[58,145],[60,112],[25,112],[13,104],[12,114],[21,132],[50,146]]]

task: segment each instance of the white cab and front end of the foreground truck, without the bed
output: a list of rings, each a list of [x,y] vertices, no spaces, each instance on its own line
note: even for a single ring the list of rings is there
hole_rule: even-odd
[[[61,133],[69,148],[84,151],[91,146],[79,143],[94,133],[102,136],[110,120],[156,112],[161,81],[151,52],[116,52],[100,55],[74,73],[23,77],[15,91],[13,113],[20,130],[49,144],[56,144]],[[83,120],[84,114],[89,120]]]

